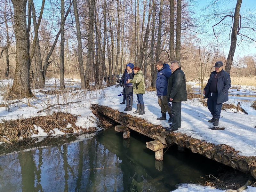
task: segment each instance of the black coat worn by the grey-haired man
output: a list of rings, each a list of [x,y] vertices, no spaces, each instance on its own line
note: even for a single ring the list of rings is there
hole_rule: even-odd
[[[181,68],[177,68],[168,80],[167,101],[170,102],[187,101],[186,77]]]

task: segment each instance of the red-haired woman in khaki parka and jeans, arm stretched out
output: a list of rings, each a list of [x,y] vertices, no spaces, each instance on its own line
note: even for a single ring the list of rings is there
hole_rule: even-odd
[[[133,113],[139,113],[139,115],[145,114],[145,105],[143,101],[143,94],[145,94],[145,81],[144,81],[144,75],[139,67],[133,68],[134,77],[133,79],[129,79],[126,81],[126,83],[132,83],[134,93],[136,93],[137,96],[137,110]]]

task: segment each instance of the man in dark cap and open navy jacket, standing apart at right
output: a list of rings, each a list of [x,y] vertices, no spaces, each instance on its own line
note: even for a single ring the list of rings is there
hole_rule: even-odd
[[[217,61],[213,67],[215,67],[215,71],[212,71],[203,94],[205,95],[204,98],[208,98],[207,107],[212,114],[212,119],[208,122],[213,122],[213,125],[217,126],[219,125],[222,103],[228,101],[231,79],[228,72],[222,69],[223,63],[221,61]]]

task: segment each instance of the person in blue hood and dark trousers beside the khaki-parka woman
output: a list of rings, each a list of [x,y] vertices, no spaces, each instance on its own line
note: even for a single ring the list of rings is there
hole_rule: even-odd
[[[134,67],[133,63],[128,63],[126,65],[126,71],[124,73],[124,89],[126,94],[126,108],[124,111],[131,111],[132,110],[132,102],[133,102],[133,89],[132,83],[126,83],[127,80],[133,79],[134,73],[132,68]],[[129,97],[130,97],[130,105],[129,105]]]

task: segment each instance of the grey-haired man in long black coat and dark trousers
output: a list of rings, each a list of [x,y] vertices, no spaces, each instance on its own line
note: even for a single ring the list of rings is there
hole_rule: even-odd
[[[165,129],[175,131],[181,127],[181,101],[187,101],[186,77],[179,61],[171,62],[172,75],[168,80],[167,101],[172,102],[172,124]]]

